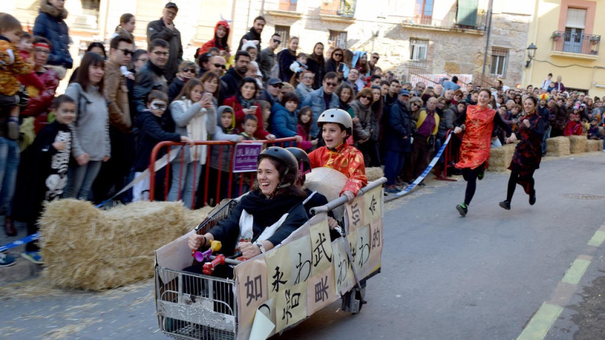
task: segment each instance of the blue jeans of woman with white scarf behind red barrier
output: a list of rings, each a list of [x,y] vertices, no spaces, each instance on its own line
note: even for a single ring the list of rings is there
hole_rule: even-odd
[[[194,188],[197,190],[203,168],[204,166],[200,162],[174,163],[168,200],[177,201],[180,198],[185,206],[191,209],[191,201],[194,199],[193,191]]]

